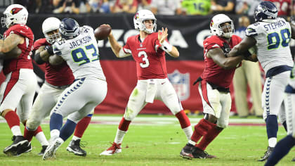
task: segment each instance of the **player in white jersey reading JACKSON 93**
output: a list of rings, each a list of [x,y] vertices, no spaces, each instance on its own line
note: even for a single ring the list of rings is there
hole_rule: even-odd
[[[60,94],[51,110],[51,141],[43,160],[55,158],[55,152],[72,135],[77,122],[89,115],[107,94],[107,82],[100,66],[93,28],[86,25],[79,27],[76,20],[64,18],[59,33],[63,39],[41,51],[40,56],[43,53],[51,55],[48,58],[51,64],[65,60],[73,71],[74,83]],[[67,115],[67,122],[63,125],[63,117]]]

